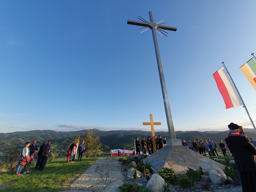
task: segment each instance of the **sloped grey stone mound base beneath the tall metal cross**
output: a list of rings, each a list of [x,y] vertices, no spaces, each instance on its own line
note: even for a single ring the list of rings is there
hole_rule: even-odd
[[[222,170],[225,169],[225,165],[182,145],[167,145],[143,161],[145,164],[147,162],[151,165],[154,173],[161,171],[163,167],[173,169],[176,174],[185,174],[187,173],[188,167],[196,170],[201,166],[204,175],[208,175],[209,170],[213,167],[219,167]]]

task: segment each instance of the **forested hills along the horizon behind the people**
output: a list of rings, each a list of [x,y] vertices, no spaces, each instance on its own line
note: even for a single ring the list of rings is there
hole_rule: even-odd
[[[102,143],[102,151],[107,152],[110,148],[112,149],[127,149],[132,150],[134,148],[134,139],[139,137],[141,140],[142,137],[151,136],[151,131],[100,131],[98,129],[93,129],[93,132],[96,133],[96,136],[100,137],[100,142]],[[37,140],[38,147],[49,139],[52,140],[51,151],[58,153],[59,157],[65,157],[66,151],[74,142],[74,137],[80,136],[81,133],[87,133],[87,130],[81,131],[69,131],[69,132],[57,132],[51,130],[33,130],[33,131],[24,131],[24,132],[13,132],[13,133],[0,133],[0,160],[3,161],[6,155],[10,154],[13,149],[21,150],[24,147],[24,144],[28,141],[32,142]],[[223,140],[228,136],[229,131],[176,131],[177,139],[195,139],[207,140],[212,139],[218,145],[219,140]],[[256,133],[253,129],[245,129],[245,133],[248,137],[254,137],[256,139]],[[156,136],[161,135],[162,138],[165,136],[169,139],[168,132],[156,132]]]

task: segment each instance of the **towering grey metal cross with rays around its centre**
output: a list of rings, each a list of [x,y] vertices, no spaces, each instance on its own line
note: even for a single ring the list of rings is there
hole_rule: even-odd
[[[153,20],[153,16],[152,16],[151,11],[149,11],[149,18],[150,18],[150,22],[148,22],[147,20],[144,20],[143,18],[142,18],[143,20],[141,20],[139,18],[139,20],[141,20],[143,22],[128,20],[127,24],[149,27],[152,30],[154,46],[155,46],[155,51],[156,51],[156,58],[157,58],[158,73],[159,73],[159,76],[160,76],[162,94],[163,94],[163,99],[164,99],[164,108],[165,108],[165,114],[166,114],[166,119],[167,119],[167,126],[168,126],[169,136],[170,136],[170,139],[176,139],[176,135],[175,135],[175,131],[174,131],[174,125],[173,125],[173,118],[171,116],[171,107],[170,107],[169,98],[168,98],[167,89],[166,89],[165,80],[164,80],[164,71],[163,71],[160,52],[159,52],[159,48],[158,48],[156,30],[158,30],[162,34],[164,34],[163,32],[165,32],[165,31],[163,31],[163,30],[176,31],[177,28],[168,27],[168,26],[164,26],[164,25],[155,23],[154,20]]]

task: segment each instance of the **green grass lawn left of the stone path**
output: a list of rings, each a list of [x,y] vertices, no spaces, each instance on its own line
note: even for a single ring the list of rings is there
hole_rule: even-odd
[[[35,170],[32,164],[26,175],[16,172],[0,173],[1,192],[54,192],[67,191],[72,182],[86,171],[99,157],[83,158],[67,163],[66,158],[47,162],[44,171]],[[34,163],[34,162],[33,162]]]

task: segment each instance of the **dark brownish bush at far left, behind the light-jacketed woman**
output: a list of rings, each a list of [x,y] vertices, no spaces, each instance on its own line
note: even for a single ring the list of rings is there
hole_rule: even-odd
[[[20,157],[20,150],[14,149],[11,151],[4,161],[5,168],[7,171],[14,171],[18,166],[18,159]]]

